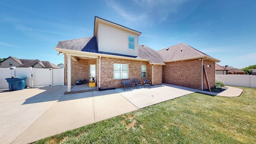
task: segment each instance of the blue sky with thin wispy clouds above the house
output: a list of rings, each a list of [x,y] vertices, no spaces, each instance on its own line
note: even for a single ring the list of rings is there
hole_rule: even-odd
[[[64,63],[58,41],[93,36],[94,16],[142,32],[160,50],[181,42],[244,68],[256,64],[256,0],[0,0],[0,58]]]

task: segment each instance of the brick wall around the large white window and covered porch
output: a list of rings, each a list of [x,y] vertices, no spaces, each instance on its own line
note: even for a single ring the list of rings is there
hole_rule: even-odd
[[[132,82],[134,78],[144,82],[144,79],[149,79],[152,82],[152,65],[149,62],[135,61],[135,60],[124,60],[118,58],[101,58],[101,89],[105,88],[121,88],[121,79],[114,80],[114,63],[128,64],[129,73],[128,79]],[[66,78],[66,64],[67,56],[64,56],[64,74],[65,74],[65,85],[68,84]],[[77,62],[71,60],[71,85],[75,85],[76,79],[86,78],[88,82],[89,77],[89,65],[96,64],[96,84],[99,88],[99,58],[93,60],[78,60]],[[146,78],[141,78],[141,66],[146,65]],[[162,66],[154,66],[154,85],[162,84]]]

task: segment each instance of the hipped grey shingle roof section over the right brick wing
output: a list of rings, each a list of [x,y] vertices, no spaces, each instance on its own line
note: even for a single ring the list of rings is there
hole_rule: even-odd
[[[214,62],[220,61],[220,60],[212,58],[212,57],[208,56],[207,54],[204,54],[203,52],[200,52],[199,50],[196,50],[195,48],[192,48],[191,46],[188,46],[187,44],[184,44],[184,43],[176,44],[174,46],[170,46],[168,48],[158,50],[158,52],[162,56],[163,62],[187,60],[187,59],[201,58],[201,57],[203,58],[205,56],[210,58]]]

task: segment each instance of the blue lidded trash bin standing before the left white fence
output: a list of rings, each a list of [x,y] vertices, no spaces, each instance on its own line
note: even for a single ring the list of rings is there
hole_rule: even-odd
[[[25,81],[27,77],[14,77],[14,78],[6,78],[9,84],[9,91],[14,90],[23,90],[25,86]]]

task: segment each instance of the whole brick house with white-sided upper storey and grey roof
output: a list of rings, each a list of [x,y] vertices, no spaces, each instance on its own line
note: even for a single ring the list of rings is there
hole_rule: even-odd
[[[215,62],[220,60],[184,43],[156,51],[138,44],[140,35],[141,32],[95,17],[94,36],[59,41],[54,49],[64,54],[67,92],[76,79],[90,76],[95,76],[99,89],[121,88],[121,80],[133,82],[134,78],[149,79],[152,85],[207,89],[208,82],[210,87],[215,86]]]

